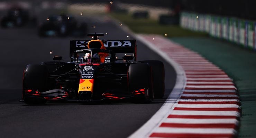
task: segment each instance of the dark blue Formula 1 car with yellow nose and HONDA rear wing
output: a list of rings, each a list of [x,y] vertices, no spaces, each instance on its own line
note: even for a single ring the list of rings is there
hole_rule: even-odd
[[[136,40],[99,40],[103,34],[88,34],[93,40],[71,40],[70,62],[61,56],[27,65],[22,102],[105,101],[136,99],[150,102],[162,98],[165,74],[162,61],[136,61]],[[116,53],[126,53],[121,60]],[[128,56],[128,54],[131,54]]]

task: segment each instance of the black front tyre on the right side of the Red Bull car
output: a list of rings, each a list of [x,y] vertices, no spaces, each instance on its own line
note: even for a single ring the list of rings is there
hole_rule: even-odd
[[[131,64],[128,69],[129,91],[144,89],[146,102],[154,99],[151,68],[147,63]]]

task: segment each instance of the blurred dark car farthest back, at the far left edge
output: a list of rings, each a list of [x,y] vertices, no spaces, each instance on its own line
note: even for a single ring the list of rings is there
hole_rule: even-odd
[[[3,28],[21,27],[28,22],[36,22],[36,18],[30,18],[29,12],[22,8],[11,8],[7,15],[1,18]]]

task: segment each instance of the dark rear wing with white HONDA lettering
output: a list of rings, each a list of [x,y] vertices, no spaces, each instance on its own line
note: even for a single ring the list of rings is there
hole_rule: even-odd
[[[73,59],[75,50],[88,49],[88,42],[90,40],[70,40],[70,58]],[[136,40],[107,40],[102,41],[107,50],[112,50],[115,53],[133,53],[134,61],[137,57]]]

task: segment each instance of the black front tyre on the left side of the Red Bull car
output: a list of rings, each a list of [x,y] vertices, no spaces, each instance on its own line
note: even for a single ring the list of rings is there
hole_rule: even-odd
[[[44,92],[47,89],[48,69],[44,65],[28,65],[24,71],[23,98],[27,104],[44,104],[45,99],[38,96],[26,95],[25,90]]]

